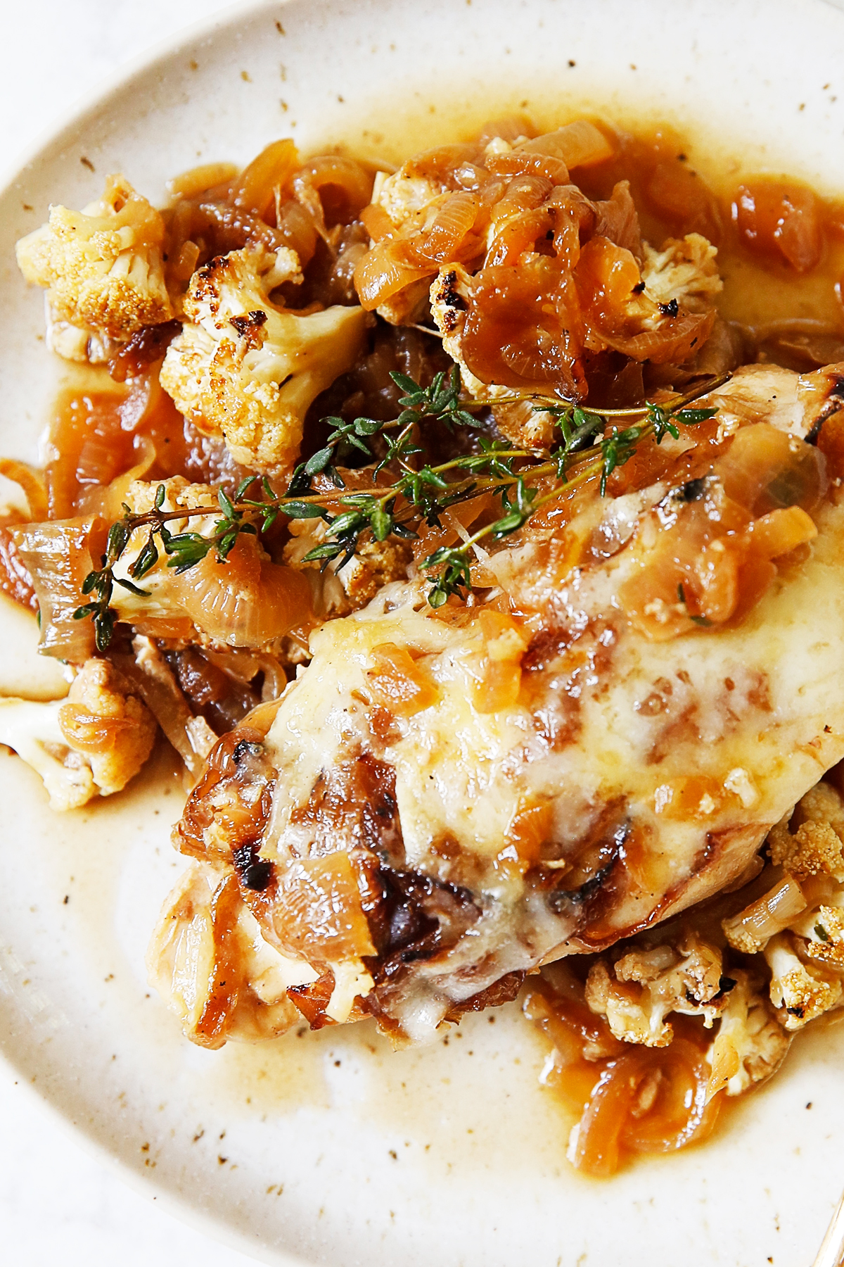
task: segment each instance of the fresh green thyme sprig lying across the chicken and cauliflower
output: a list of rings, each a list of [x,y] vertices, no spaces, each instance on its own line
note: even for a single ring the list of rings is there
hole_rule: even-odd
[[[488,402],[461,400],[457,366],[449,375],[438,374],[428,388],[421,388],[406,375],[394,374],[392,379],[404,393],[399,400],[399,417],[383,422],[372,418],[356,418],[353,422],[325,419],[332,428],[325,445],[295,468],[283,494],[277,494],[266,476],[249,475],[239,484],[234,497],[220,489],[216,506],[166,511],[163,484],[156,490],[151,511],[135,513],[124,504],[123,518],[109,531],[101,566],[85,578],[82,592],[86,597],[92,595],[91,602],[73,613],[77,620],[92,618],[97,649],[105,650],[111,641],[116,620],[111,607],[115,584],[139,597],[148,597],[148,592],[135,582],[156,566],[162,551],[167,556],[167,566],[178,574],[196,566],[211,551],[218,563],[225,563],[242,535],[259,536],[267,532],[280,514],[289,519],[319,518],[325,522],[324,540],[305,555],[304,561],[326,566],[333,560],[339,560],[335,564],[335,570],[339,571],[358,551],[362,538],[386,541],[391,536],[414,537],[418,535],[416,527],[423,523],[440,527],[440,516],[449,507],[491,492],[501,499],[500,517],[481,527],[462,545],[440,547],[420,564],[424,571],[435,574],[431,575],[428,601],[431,607],[440,607],[449,597],[461,597],[471,589],[471,561],[480,541],[485,537],[501,540],[510,536],[540,507],[586,481],[599,479],[600,493],[604,495],[612,471],[633,457],[642,440],[653,436],[661,443],[666,436],[677,438],[677,423],[690,426],[711,418],[715,409],[688,409],[686,405],[724,381],[719,379],[709,383],[680,397],[671,405],[649,402],[642,407],[606,412],[514,394],[512,400],[525,400],[535,411],[554,416],[561,440],[547,460],[538,459],[529,449],[481,437],[478,452],[431,466],[414,465],[414,460],[423,454],[418,443],[419,423],[439,419],[449,428],[467,426],[475,422],[471,411],[488,408]],[[501,399],[509,402],[510,397]],[[640,421],[619,427],[610,421],[615,417]],[[378,460],[371,446],[376,436],[383,441]],[[368,489],[349,490],[343,481],[339,465],[352,451],[362,454],[372,464],[372,484]],[[380,483],[385,471],[394,475],[388,484]],[[333,489],[325,490],[323,485],[315,490],[316,476],[326,478]],[[537,481],[554,478],[558,483],[540,493],[540,484]],[[215,513],[219,517],[208,532],[173,533],[168,527],[175,519],[186,521]],[[149,532],[127,569],[133,579],[115,575],[114,568],[129,538],[142,527],[148,527]]]

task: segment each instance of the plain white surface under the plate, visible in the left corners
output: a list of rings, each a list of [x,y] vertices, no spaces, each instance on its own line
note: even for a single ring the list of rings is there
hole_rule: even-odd
[[[80,96],[218,0],[25,0],[0,4],[0,172]],[[8,1267],[245,1267],[82,1152],[0,1066],[0,1261]]]

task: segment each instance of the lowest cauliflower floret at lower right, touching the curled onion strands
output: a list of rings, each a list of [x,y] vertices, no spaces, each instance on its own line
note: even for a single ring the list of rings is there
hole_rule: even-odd
[[[750,974],[738,968],[731,981],[721,1024],[709,1050],[710,1097],[717,1091],[740,1096],[754,1083],[764,1082],[777,1071],[791,1043],[763,995],[754,988]]]

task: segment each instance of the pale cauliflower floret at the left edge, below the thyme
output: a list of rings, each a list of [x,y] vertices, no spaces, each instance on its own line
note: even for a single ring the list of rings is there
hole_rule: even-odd
[[[0,742],[40,775],[53,810],[119,792],[154,736],[152,715],[106,660],[87,660],[67,699],[0,699]]]

